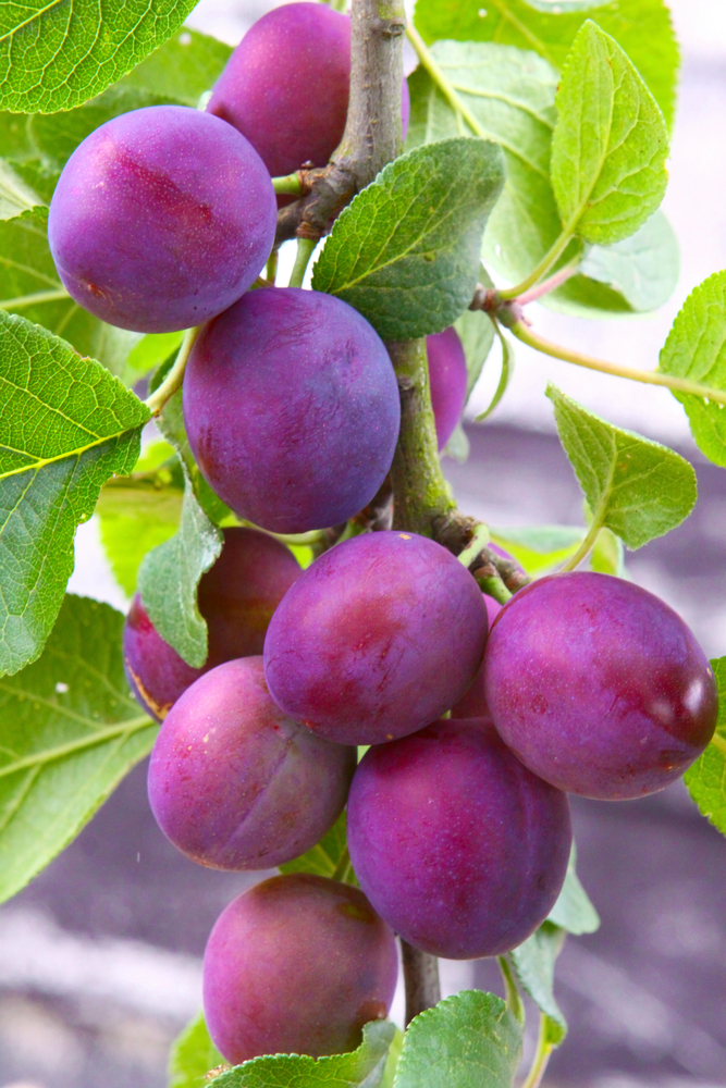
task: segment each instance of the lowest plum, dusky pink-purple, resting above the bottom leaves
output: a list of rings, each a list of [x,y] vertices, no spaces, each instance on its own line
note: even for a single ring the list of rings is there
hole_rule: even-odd
[[[235,899],[204,963],[210,1035],[233,1063],[355,1049],[382,1019],[398,973],[395,938],[349,885],[296,873]]]

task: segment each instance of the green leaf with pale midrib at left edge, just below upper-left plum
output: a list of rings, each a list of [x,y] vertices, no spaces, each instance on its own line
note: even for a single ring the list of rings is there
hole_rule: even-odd
[[[47,208],[0,222],[0,309],[44,325],[121,376],[139,334],[107,325],[74,302],[56,271],[47,224]]]

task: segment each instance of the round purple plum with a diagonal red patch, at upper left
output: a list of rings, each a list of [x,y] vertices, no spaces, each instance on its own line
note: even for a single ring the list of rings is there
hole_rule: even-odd
[[[76,148],[48,240],[69,294],[121,329],[173,332],[221,313],[261,271],[274,191],[253,146],[219,118],[150,106]]]

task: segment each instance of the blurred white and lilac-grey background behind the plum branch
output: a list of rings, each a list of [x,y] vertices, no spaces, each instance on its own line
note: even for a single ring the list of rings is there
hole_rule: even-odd
[[[189,24],[229,41],[271,3],[201,0]],[[655,318],[589,322],[530,308],[543,335],[652,368],[688,293],[726,267],[726,3],[670,0],[682,47],[664,210],[681,245],[678,288]],[[409,58],[409,67],[413,58]],[[471,415],[499,376],[495,350]],[[446,459],[460,507],[495,526],[581,524],[546,380],[613,423],[673,445],[700,497],[680,529],[628,555],[631,576],[726,654],[726,475],[704,461],[664,390],[592,374],[516,346],[515,374],[471,456]],[[82,527],[70,589],[125,608],[98,540]],[[251,882],[198,868],[158,831],[138,767],[81,837],[0,908],[0,1088],[162,1088],[171,1040],[200,1005],[200,963],[222,907]],[[557,997],[570,1033],[549,1088],[726,1084],[726,840],[677,786],[643,801],[573,805],[578,870],[602,918],[569,939]],[[443,963],[443,987],[501,990],[488,961]],[[394,1010],[403,1015],[401,994]],[[534,1016],[530,1019],[533,1022]],[[531,1044],[531,1041],[530,1041]],[[442,1086],[444,1088],[444,1086]]]

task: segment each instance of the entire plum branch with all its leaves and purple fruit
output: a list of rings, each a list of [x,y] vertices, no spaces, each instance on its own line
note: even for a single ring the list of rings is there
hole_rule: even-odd
[[[678,454],[550,386],[588,523],[493,530],[440,452],[520,339],[670,390],[726,463],[726,272],[655,370],[525,317],[675,285],[667,7],[306,0],[233,52],[180,29],[188,0],[135,7],[2,27],[0,898],[151,753],[180,850],[282,873],[212,930],[177,1088],[220,1056],[220,1088],[512,1088],[522,993],[536,1088],[556,956],[598,925],[567,793],[686,771],[726,833],[726,658],[624,578],[693,508]],[[64,598],[95,510],[125,621]],[[440,1001],[439,955],[499,956],[505,1000]]]

